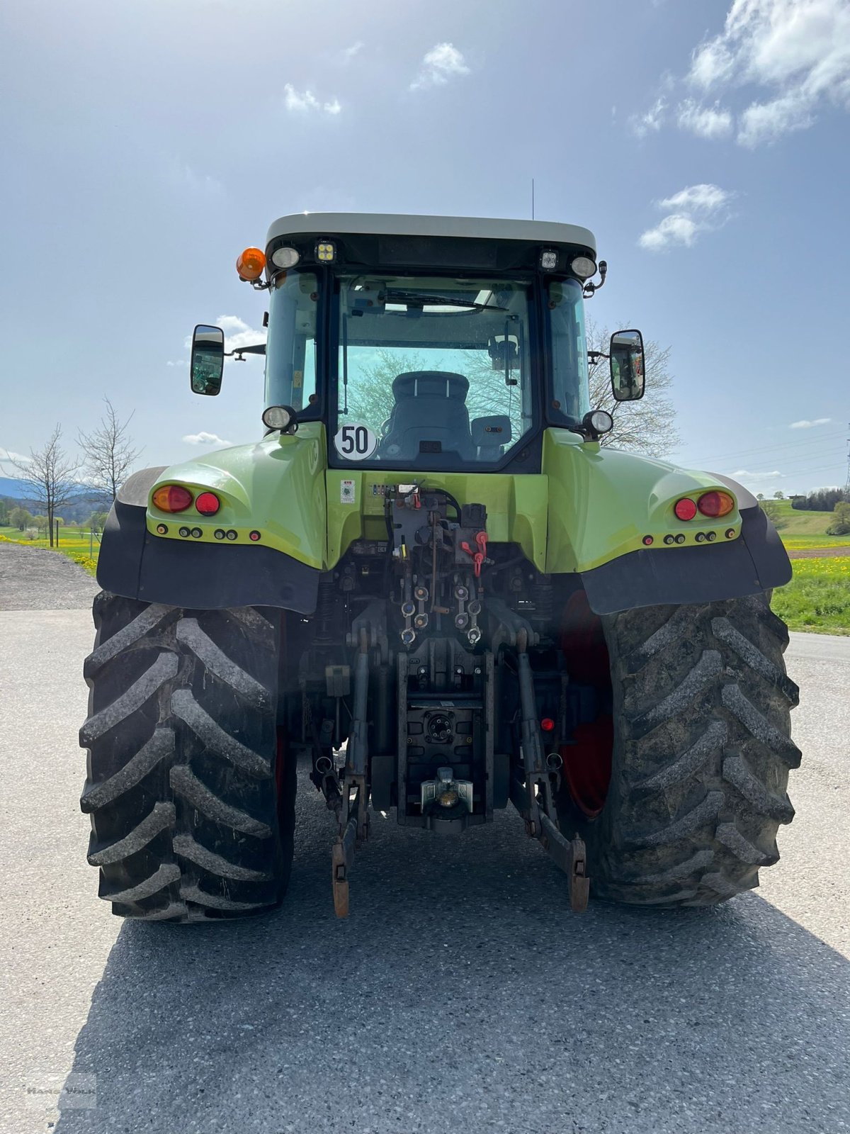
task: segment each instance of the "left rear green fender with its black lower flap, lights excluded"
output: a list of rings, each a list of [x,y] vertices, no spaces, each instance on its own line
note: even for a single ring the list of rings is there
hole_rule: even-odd
[[[135,473],[107,521],[97,582],[114,594],[175,607],[312,613],[326,559],[324,471],[323,430],[308,425],[295,437],[275,434],[203,462]],[[186,485],[195,497],[215,492],[219,514],[160,511],[151,498],[165,483]],[[180,536],[181,527],[201,535]],[[216,531],[235,538],[219,539]]]

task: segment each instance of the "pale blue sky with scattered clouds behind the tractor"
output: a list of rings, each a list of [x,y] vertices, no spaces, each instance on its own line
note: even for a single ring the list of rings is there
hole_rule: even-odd
[[[272,220],[527,218],[534,178],[609,262],[588,315],[671,347],[671,459],[843,484],[849,141],[850,0],[6,0],[0,458],[104,396],[143,465],[255,440],[262,363],[195,397],[187,336],[260,338]]]

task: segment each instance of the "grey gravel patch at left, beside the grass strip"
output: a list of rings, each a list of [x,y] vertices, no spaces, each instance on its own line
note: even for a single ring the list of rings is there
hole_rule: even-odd
[[[0,543],[0,610],[91,610],[100,587],[56,551]]]

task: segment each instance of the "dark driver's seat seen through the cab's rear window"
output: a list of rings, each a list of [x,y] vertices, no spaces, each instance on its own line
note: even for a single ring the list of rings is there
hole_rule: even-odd
[[[399,374],[392,383],[396,404],[381,455],[415,460],[419,452],[456,452],[471,460],[475,448],[466,407],[468,390],[469,382],[462,374],[439,370]],[[431,447],[420,448],[423,442],[431,442]]]

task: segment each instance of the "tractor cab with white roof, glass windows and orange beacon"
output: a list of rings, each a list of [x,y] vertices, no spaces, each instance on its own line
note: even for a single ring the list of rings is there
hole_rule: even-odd
[[[587,229],[299,214],[237,269],[269,291],[266,409],[284,407],[292,430],[323,422],[331,468],[539,472],[547,426],[604,431],[588,401],[584,298],[605,265],[589,282]],[[212,381],[211,337],[196,331],[198,393],[220,386],[223,336]]]

